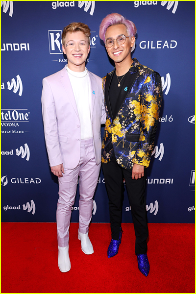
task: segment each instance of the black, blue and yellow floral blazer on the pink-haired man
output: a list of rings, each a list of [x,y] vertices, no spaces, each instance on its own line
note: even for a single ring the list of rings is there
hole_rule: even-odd
[[[114,152],[125,169],[134,163],[148,167],[162,101],[161,77],[134,58],[112,114],[108,92],[114,73],[102,79],[107,117],[101,161],[108,163]]]

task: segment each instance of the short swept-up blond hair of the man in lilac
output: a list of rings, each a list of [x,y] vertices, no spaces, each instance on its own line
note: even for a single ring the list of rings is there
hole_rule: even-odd
[[[65,37],[67,32],[73,33],[73,32],[83,32],[84,35],[87,37],[88,40],[88,45],[90,45],[90,34],[91,34],[91,30],[88,27],[88,25],[85,25],[83,23],[71,23],[70,25],[67,25],[64,27],[63,29],[63,33],[62,33],[62,43],[63,46],[65,46]]]

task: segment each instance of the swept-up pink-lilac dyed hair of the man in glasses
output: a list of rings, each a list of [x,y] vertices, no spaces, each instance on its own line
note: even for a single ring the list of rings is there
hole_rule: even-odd
[[[99,37],[103,42],[105,42],[105,33],[109,26],[111,25],[125,25],[127,33],[130,37],[135,37],[137,33],[136,26],[133,22],[126,20],[119,13],[111,13],[108,14],[101,22],[99,27]]]

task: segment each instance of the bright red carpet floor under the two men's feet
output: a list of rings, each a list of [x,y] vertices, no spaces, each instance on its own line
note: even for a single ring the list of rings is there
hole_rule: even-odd
[[[56,223],[1,224],[1,293],[195,293],[195,225],[148,224],[145,277],[137,267],[134,228],[124,223],[119,253],[107,258],[110,225],[92,223],[92,255],[70,226],[71,270],[60,272]]]

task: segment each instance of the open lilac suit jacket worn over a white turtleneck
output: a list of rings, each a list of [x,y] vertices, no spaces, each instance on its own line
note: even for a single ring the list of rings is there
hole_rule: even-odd
[[[91,86],[91,123],[97,165],[101,161],[100,124],[105,123],[101,78],[89,72]],[[74,169],[80,160],[80,120],[71,82],[66,71],[43,79],[42,114],[50,167],[63,163]]]

